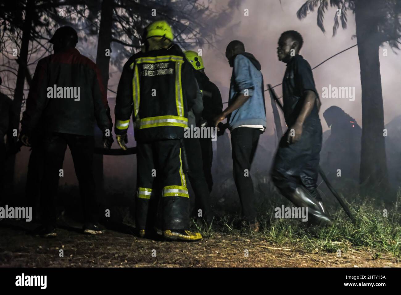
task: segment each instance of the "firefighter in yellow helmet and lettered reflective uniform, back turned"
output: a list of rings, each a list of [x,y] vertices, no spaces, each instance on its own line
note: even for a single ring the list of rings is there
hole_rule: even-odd
[[[180,139],[188,126],[188,109],[196,98],[196,79],[185,55],[172,42],[172,29],[159,20],[147,26],[144,49],[124,65],[117,88],[115,134],[126,149],[131,114],[137,143],[136,228],[152,231],[149,214],[156,176],[162,182],[162,226],[167,240],[195,241],[189,231],[190,200],[182,168]]]

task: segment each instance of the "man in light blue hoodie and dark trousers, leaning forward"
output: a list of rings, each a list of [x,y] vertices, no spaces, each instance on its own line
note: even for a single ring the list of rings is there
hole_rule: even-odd
[[[263,75],[259,61],[251,53],[245,52],[245,46],[241,41],[231,41],[227,45],[225,55],[230,67],[233,68],[229,104],[215,118],[215,126],[228,117],[233,175],[242,214],[251,229],[259,232],[250,170],[259,136],[266,128]]]

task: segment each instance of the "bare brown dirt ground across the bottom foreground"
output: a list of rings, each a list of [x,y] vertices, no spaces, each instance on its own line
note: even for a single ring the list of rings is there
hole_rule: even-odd
[[[123,232],[126,233],[123,233]],[[399,259],[374,251],[306,252],[274,245],[253,235],[214,233],[199,242],[166,242],[106,230],[99,236],[80,228],[58,229],[43,239],[26,228],[0,222],[0,267],[400,267]],[[63,257],[60,257],[63,250]],[[247,252],[246,252],[247,250]],[[248,253],[248,256],[246,256]],[[376,258],[375,258],[376,257]]]

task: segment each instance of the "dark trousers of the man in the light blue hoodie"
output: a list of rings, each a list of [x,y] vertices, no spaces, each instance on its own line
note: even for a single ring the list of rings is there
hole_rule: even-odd
[[[233,175],[245,220],[255,222],[257,210],[251,178],[251,164],[255,156],[261,130],[237,127],[231,131]]]

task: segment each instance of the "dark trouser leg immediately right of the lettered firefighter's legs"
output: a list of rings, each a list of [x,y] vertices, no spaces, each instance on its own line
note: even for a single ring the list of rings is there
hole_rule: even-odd
[[[202,216],[205,217],[211,213],[211,209],[209,187],[203,171],[201,143],[199,138],[184,138],[184,144],[189,165],[188,179],[195,194],[195,210],[198,212],[201,209]]]

